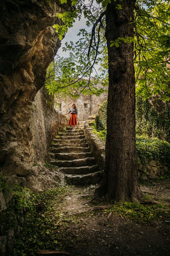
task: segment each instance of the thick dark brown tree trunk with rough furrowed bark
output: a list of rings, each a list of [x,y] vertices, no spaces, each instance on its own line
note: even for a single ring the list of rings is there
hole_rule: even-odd
[[[122,202],[142,197],[138,182],[135,140],[135,71],[133,43],[110,47],[118,37],[133,37],[135,0],[111,1],[106,8],[109,89],[105,168],[95,197]]]

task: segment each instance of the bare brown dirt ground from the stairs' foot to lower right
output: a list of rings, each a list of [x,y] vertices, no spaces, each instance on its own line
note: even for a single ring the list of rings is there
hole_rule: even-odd
[[[147,186],[142,186],[142,190],[153,192]],[[92,195],[94,189],[79,187],[79,191],[82,194],[73,189],[68,193],[65,212],[84,208],[82,204],[87,199],[81,195]],[[147,224],[122,218],[120,214],[112,214],[109,220],[107,217],[108,212],[103,210],[77,216],[80,223],[67,230],[70,255],[170,255],[169,217],[160,215],[159,219]]]

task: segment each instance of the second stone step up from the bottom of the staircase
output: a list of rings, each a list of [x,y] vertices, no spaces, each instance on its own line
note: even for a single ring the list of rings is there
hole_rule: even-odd
[[[63,172],[65,174],[75,174],[75,175],[94,173],[94,172],[97,172],[98,170],[99,170],[98,165],[59,168],[60,172]]]

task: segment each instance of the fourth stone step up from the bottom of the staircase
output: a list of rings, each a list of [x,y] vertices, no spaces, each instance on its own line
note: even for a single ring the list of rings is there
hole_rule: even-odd
[[[62,160],[74,160],[74,159],[84,159],[87,157],[93,157],[91,152],[87,153],[56,153],[55,158]]]

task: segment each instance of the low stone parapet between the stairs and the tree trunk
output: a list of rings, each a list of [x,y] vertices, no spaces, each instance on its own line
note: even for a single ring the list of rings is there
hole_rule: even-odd
[[[105,143],[93,132],[93,129],[90,127],[90,123],[90,119],[84,123],[84,135],[86,142],[90,147],[90,151],[92,151],[96,163],[99,165],[99,169],[104,170]]]

